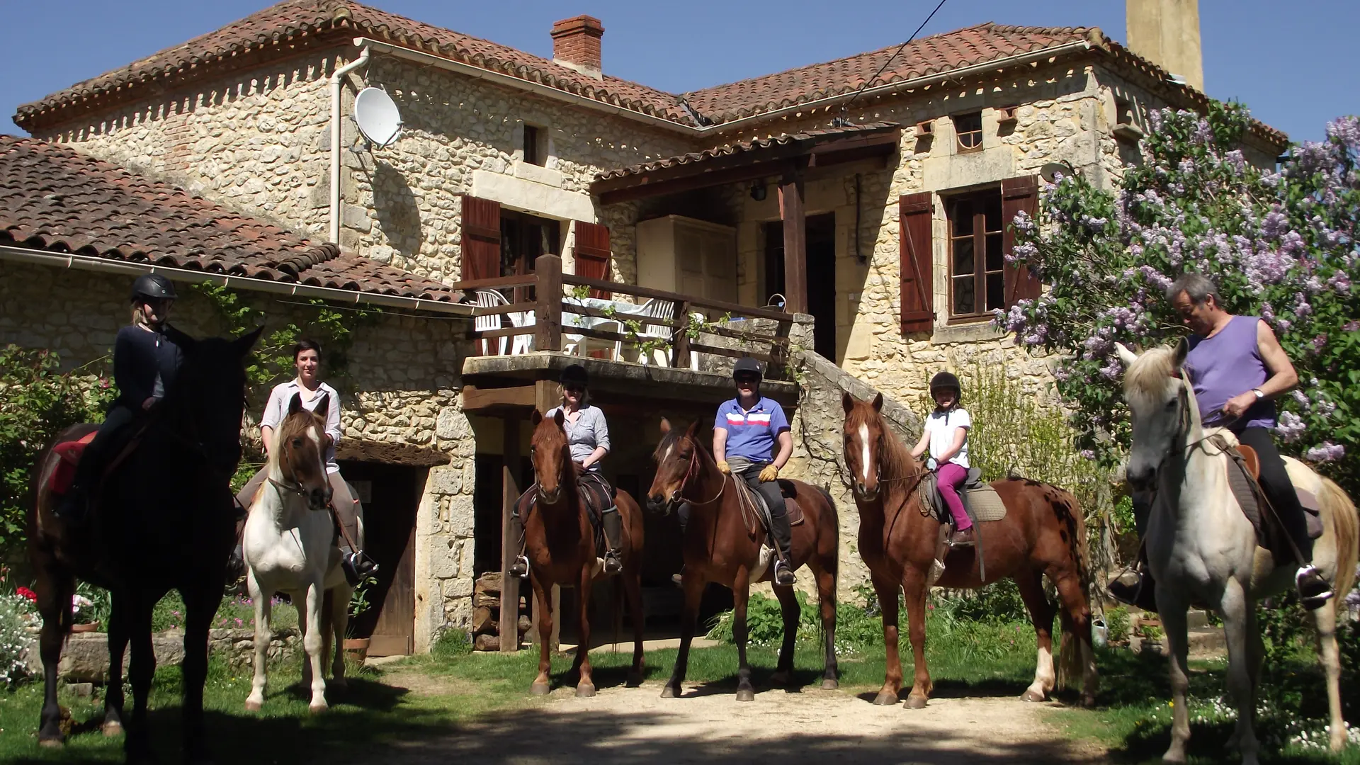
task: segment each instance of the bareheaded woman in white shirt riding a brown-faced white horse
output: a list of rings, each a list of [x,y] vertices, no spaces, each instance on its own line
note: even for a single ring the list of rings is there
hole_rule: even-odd
[[[292,402],[292,396],[302,396],[302,406],[307,411],[316,411],[317,404],[322,399],[329,399],[330,404],[326,407],[326,432],[322,438],[326,441],[325,455],[326,474],[330,479],[330,506],[335,508],[336,519],[344,527],[350,539],[358,539],[359,513],[355,512],[358,501],[350,493],[350,486],[344,482],[344,478],[340,476],[340,466],[336,463],[336,444],[340,441],[340,393],[320,378],[321,346],[314,340],[298,340],[298,344],[292,347],[292,366],[298,370],[298,376],[273,387],[273,391],[269,392],[269,402],[264,406],[264,417],[260,418],[260,436],[264,438],[265,456],[273,448],[275,429],[288,415],[288,404]],[[242,508],[249,509],[254,502],[256,493],[264,483],[267,472],[267,467],[260,468],[260,472],[237,493],[237,501],[241,502]],[[243,568],[238,564],[241,559],[239,536],[241,530],[238,528],[237,550],[231,558],[233,568]],[[345,579],[352,585],[358,585],[378,570],[378,566],[363,554],[363,550],[350,549],[344,535],[340,536],[340,565],[344,569]]]

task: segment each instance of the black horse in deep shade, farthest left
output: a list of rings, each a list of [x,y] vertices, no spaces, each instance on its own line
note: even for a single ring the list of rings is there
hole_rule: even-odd
[[[235,542],[231,475],[241,460],[241,415],[245,411],[243,361],[260,338],[258,328],[235,340],[205,339],[182,346],[177,384],[141,421],[136,444],[98,490],[91,491],[88,520],[58,519],[53,508],[53,448],[38,456],[34,504],[29,510],[29,559],[37,576],[39,648],[45,696],[38,740],[61,745],[57,664],[71,632],[71,595],[76,579],[105,587],[113,596],[109,617],[109,686],[103,732],[124,728],[122,652],[132,644],[133,711],[126,720],[124,753],[129,762],[151,760],[147,700],[155,672],[151,610],[171,588],[186,607],[184,633],[182,728],[185,760],[203,762],[203,683],[208,672],[208,625],[222,602],[227,555]],[[88,433],[76,425],[56,444]]]

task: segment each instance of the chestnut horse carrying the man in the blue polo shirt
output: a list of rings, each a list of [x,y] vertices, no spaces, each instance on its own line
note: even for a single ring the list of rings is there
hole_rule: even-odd
[[[676,656],[675,671],[661,691],[662,698],[680,696],[690,662],[690,641],[694,640],[695,622],[699,617],[699,598],[706,583],[715,581],[732,589],[732,634],[737,641],[737,701],[755,700],[751,685],[751,666],[747,664],[747,600],[751,591],[751,574],[760,566],[760,543],[766,535],[759,521],[747,521],[737,494],[737,479],[718,471],[713,455],[695,438],[698,423],[680,433],[670,429],[670,422],[661,421],[661,442],[653,459],[657,461],[657,476],[647,491],[647,508],[669,513],[688,502],[690,521],[684,535],[684,614],[680,622],[680,653]],[[826,644],[826,670],[821,687],[835,689],[836,682],[836,568],[839,565],[839,538],[836,505],[831,495],[801,481],[793,485],[798,506],[802,508],[804,523],[793,527],[790,558],[793,568],[806,564],[817,583],[817,598],[821,608],[821,637]],[[767,569],[774,569],[772,565]],[[766,570],[760,580],[771,580]],[[793,587],[774,585],[783,613],[783,644],[779,647],[779,664],[770,678],[774,685],[789,685],[793,681],[793,641],[798,633],[798,602]]]

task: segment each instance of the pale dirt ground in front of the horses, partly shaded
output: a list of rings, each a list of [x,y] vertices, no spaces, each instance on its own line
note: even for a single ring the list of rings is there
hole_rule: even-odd
[[[435,689],[416,677],[388,677],[415,693]],[[422,689],[422,686],[424,686]],[[872,693],[760,690],[738,704],[729,689],[687,685],[661,698],[661,685],[602,689],[575,698],[558,689],[541,704],[412,740],[384,762],[479,765],[874,762],[1104,762],[1095,745],[1073,742],[1043,721],[1043,704],[1010,697],[936,698],[923,711],[874,706]]]

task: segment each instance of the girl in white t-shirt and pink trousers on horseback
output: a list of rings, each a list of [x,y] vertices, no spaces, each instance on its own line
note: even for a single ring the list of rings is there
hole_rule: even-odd
[[[972,519],[959,498],[959,487],[968,478],[968,429],[972,426],[968,410],[959,406],[962,393],[959,378],[948,372],[930,378],[930,397],[936,400],[936,410],[926,418],[921,441],[911,449],[911,456],[917,459],[930,449],[940,495],[953,515],[955,531],[949,535],[949,544],[953,547],[972,544]]]

